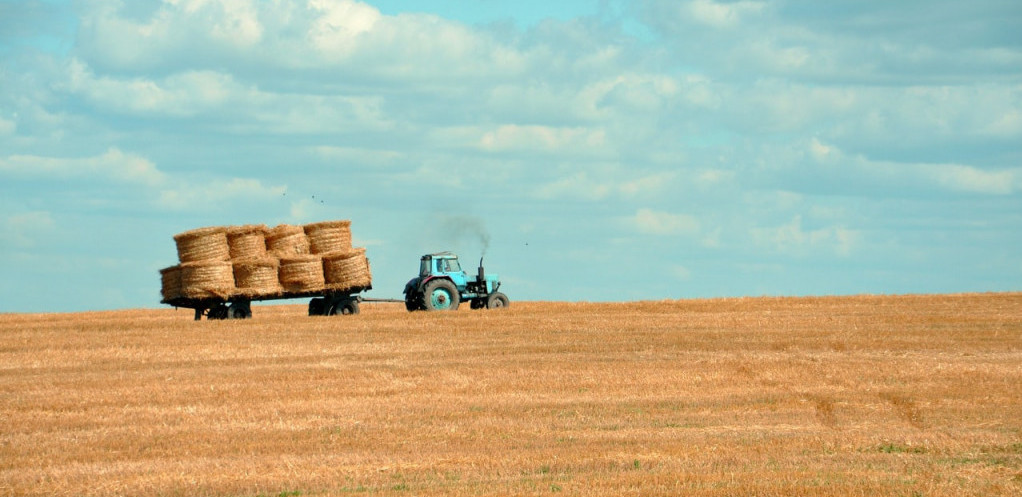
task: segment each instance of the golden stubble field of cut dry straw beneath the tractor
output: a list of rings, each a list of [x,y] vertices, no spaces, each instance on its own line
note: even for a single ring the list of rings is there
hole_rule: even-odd
[[[1022,295],[0,315],[3,495],[1020,495]]]

